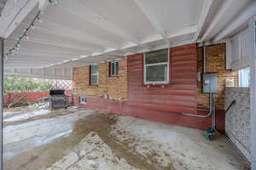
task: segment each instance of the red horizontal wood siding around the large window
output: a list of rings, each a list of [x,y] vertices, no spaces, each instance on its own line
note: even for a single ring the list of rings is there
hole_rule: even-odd
[[[127,105],[152,111],[196,113],[196,45],[170,49],[170,83],[144,85],[143,54],[127,58]]]

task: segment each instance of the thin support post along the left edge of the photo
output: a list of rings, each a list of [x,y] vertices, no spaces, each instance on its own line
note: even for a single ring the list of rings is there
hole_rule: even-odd
[[[0,37],[0,170],[3,170],[3,38]]]

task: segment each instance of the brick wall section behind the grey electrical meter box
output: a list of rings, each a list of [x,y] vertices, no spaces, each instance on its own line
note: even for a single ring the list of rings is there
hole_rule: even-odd
[[[206,54],[206,72],[218,73],[218,94],[216,94],[216,108],[224,110],[224,97],[225,97],[225,80],[227,77],[235,79],[235,86],[238,85],[237,71],[227,71],[225,69],[225,44],[220,43],[217,45],[207,46],[205,48]],[[202,48],[197,48],[197,69],[203,72],[203,54]],[[209,94],[202,93],[202,82],[198,83],[198,107],[208,108]]]

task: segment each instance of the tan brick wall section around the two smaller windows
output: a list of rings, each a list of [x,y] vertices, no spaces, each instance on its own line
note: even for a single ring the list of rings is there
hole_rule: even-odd
[[[109,63],[99,64],[99,84],[90,85],[90,66],[73,68],[74,94],[108,95],[109,99],[127,98],[127,60],[119,61],[119,77],[109,77]]]

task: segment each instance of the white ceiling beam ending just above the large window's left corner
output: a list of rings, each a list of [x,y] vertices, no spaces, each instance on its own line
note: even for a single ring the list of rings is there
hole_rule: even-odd
[[[64,9],[70,14],[74,14],[82,20],[87,20],[90,23],[101,27],[102,29],[113,33],[116,36],[122,37],[126,41],[139,43],[137,37],[134,37],[127,31],[119,28],[119,26],[114,25],[110,22],[106,16],[102,14],[97,14],[94,10],[85,5],[86,2],[81,2],[78,0],[63,0],[57,7]]]

